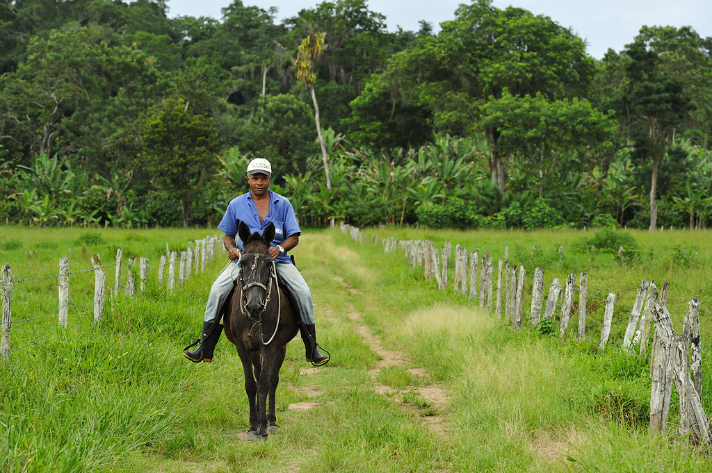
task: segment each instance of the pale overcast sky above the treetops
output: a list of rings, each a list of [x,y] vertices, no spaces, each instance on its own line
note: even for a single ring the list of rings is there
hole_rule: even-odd
[[[296,16],[302,9],[320,4],[318,0],[243,0],[247,6],[262,9],[276,6],[277,21]],[[386,16],[389,31],[401,26],[417,31],[418,21],[425,20],[439,31],[439,23],[454,18],[457,6],[463,0],[367,0],[371,11]],[[212,16],[221,18],[221,9],[230,0],[168,0],[168,15]],[[712,36],[712,0],[494,0],[494,6],[505,9],[518,6],[533,14],[550,16],[553,21],[570,27],[587,41],[588,52],[602,58],[612,48],[621,51],[631,43],[640,27],[692,26],[698,35]],[[434,6],[436,5],[436,7]]]

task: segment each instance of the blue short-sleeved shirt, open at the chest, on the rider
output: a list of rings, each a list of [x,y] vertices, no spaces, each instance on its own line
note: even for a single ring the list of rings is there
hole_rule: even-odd
[[[264,233],[270,223],[274,223],[275,235],[272,246],[281,245],[286,238],[301,233],[294,208],[288,199],[269,189],[267,191],[269,192],[269,213],[262,223],[260,223],[260,216],[257,213],[257,206],[252,194],[248,192],[232,199],[220,225],[218,225],[225,235],[236,237],[237,248],[240,251],[242,251],[242,241],[237,236],[237,225],[241,221],[250,228],[250,233],[257,232],[260,235]],[[276,258],[275,262],[291,262],[291,260],[287,256],[287,252],[284,252]]]

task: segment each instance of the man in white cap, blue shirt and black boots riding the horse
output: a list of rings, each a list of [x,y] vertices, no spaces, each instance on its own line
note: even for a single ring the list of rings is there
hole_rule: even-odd
[[[316,344],[314,304],[309,286],[287,255],[288,251],[299,243],[301,233],[294,208],[285,197],[269,190],[271,177],[272,166],[269,161],[261,158],[250,161],[247,166],[250,191],[229,203],[218,225],[218,228],[225,233],[223,244],[231,261],[218,275],[210,289],[202,336],[199,340],[200,346],[193,351],[188,349],[183,351],[183,355],[190,361],[195,363],[213,361],[213,351],[223,329],[219,323],[219,306],[226,292],[233,287],[233,281],[240,271],[239,260],[243,242],[240,239],[235,240],[240,222],[245,223],[250,232],[259,234],[262,234],[270,223],[275,225],[276,234],[269,253],[286,287],[296,299],[300,314],[299,331],[304,341],[306,359],[315,366],[329,361],[329,356],[323,355]]]

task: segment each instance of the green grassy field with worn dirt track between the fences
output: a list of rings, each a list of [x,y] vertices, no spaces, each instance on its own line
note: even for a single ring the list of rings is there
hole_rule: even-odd
[[[295,251],[313,291],[320,341],[333,354],[309,368],[295,340],[281,372],[278,422],[268,442],[245,440],[247,403],[234,348],[221,339],[211,364],[188,363],[209,285],[223,261],[169,296],[156,286],[157,257],[185,249],[202,230],[39,230],[0,228],[0,263],[14,277],[56,274],[72,248],[70,270],[88,255],[112,262],[115,248],[152,262],[145,294],[109,299],[93,324],[93,275],[72,275],[67,329],[56,314],[12,327],[14,351],[0,371],[0,471],[9,472],[706,472],[712,461],[676,440],[676,398],[669,435],[651,439],[649,365],[617,349],[614,325],[603,353],[597,328],[577,345],[512,331],[493,314],[410,270],[402,254],[358,245],[338,230],[310,230]],[[710,235],[667,230],[633,233],[654,259],[619,265],[612,255],[572,248],[592,232],[435,232],[367,230],[381,237],[450,240],[488,249],[495,261],[545,268],[545,282],[588,272],[589,291],[625,294],[625,317],[644,277],[669,281],[681,329],[686,302],[701,302],[703,377],[712,373]],[[530,249],[539,250],[532,257]],[[558,247],[565,248],[559,267]],[[686,257],[681,251],[686,250]],[[34,256],[29,256],[29,251]],[[698,253],[695,262],[692,255]],[[530,275],[529,275],[530,278]],[[107,285],[113,273],[108,272]],[[530,280],[527,281],[530,288]],[[14,318],[56,307],[56,280],[18,282]],[[525,308],[527,304],[525,303]],[[600,319],[602,307],[592,317]],[[528,310],[525,309],[525,314]],[[598,314],[598,315],[596,315]],[[575,318],[572,324],[575,331]],[[523,324],[526,326],[527,324]],[[390,363],[387,363],[390,361]],[[434,400],[429,393],[442,393]],[[703,405],[712,410],[710,390]]]

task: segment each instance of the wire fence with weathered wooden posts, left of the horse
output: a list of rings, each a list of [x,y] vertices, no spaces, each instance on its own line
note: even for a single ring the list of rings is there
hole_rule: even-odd
[[[161,257],[162,262],[160,265],[149,265],[148,258],[144,257],[129,258],[129,261],[127,261],[123,258],[122,250],[120,249],[117,250],[116,262],[104,265],[101,263],[101,260],[98,255],[93,255],[92,262],[94,267],[75,271],[63,271],[63,267],[68,268],[68,258],[63,257],[60,259],[60,272],[55,275],[45,275],[38,277],[11,277],[11,265],[5,265],[2,268],[2,278],[0,280],[0,291],[2,294],[2,319],[0,320],[0,360],[4,361],[4,363],[8,363],[10,353],[25,349],[30,346],[45,344],[46,342],[52,341],[54,339],[53,336],[46,336],[42,339],[28,341],[27,343],[21,344],[20,346],[11,347],[11,327],[16,324],[29,324],[32,333],[36,334],[35,327],[31,322],[40,321],[41,319],[46,319],[46,317],[51,316],[53,314],[58,314],[59,324],[66,326],[68,319],[68,309],[70,308],[72,308],[75,312],[81,312],[85,315],[93,314],[94,322],[98,322],[103,317],[103,308],[105,304],[106,293],[113,294],[114,296],[117,296],[119,294],[128,294],[130,296],[133,296],[137,290],[139,292],[145,290],[148,280],[155,280],[155,275],[157,273],[159,287],[162,287],[162,289],[165,289],[168,292],[173,292],[176,287],[182,286],[184,284],[186,277],[201,272],[202,270],[204,270],[206,262],[209,262],[214,259],[216,253],[219,250],[221,238],[219,238],[217,235],[212,235],[202,240],[196,240],[195,251],[192,250],[192,243],[193,242],[189,244],[189,250],[187,251],[167,251],[165,257]],[[118,267],[119,269],[115,272],[116,278],[113,282],[113,285],[111,287],[107,287],[107,270],[112,267]],[[167,274],[164,275],[164,272],[166,272]],[[70,299],[68,295],[69,277],[76,277],[76,275],[88,275],[88,273],[93,273],[95,276],[93,282],[95,289],[93,294],[93,304],[84,303],[84,301],[82,300],[83,297],[81,295],[74,294],[73,298]],[[121,277],[123,275],[125,275],[125,282],[121,280]],[[150,276],[153,277],[150,278]],[[13,292],[26,283],[43,280],[57,280],[59,297],[57,308],[36,316],[26,316],[22,319],[13,319]],[[91,282],[85,280],[80,283],[79,287],[84,288],[90,285]],[[86,299],[91,299],[90,295],[84,295]],[[15,310],[15,312],[18,311]]]

